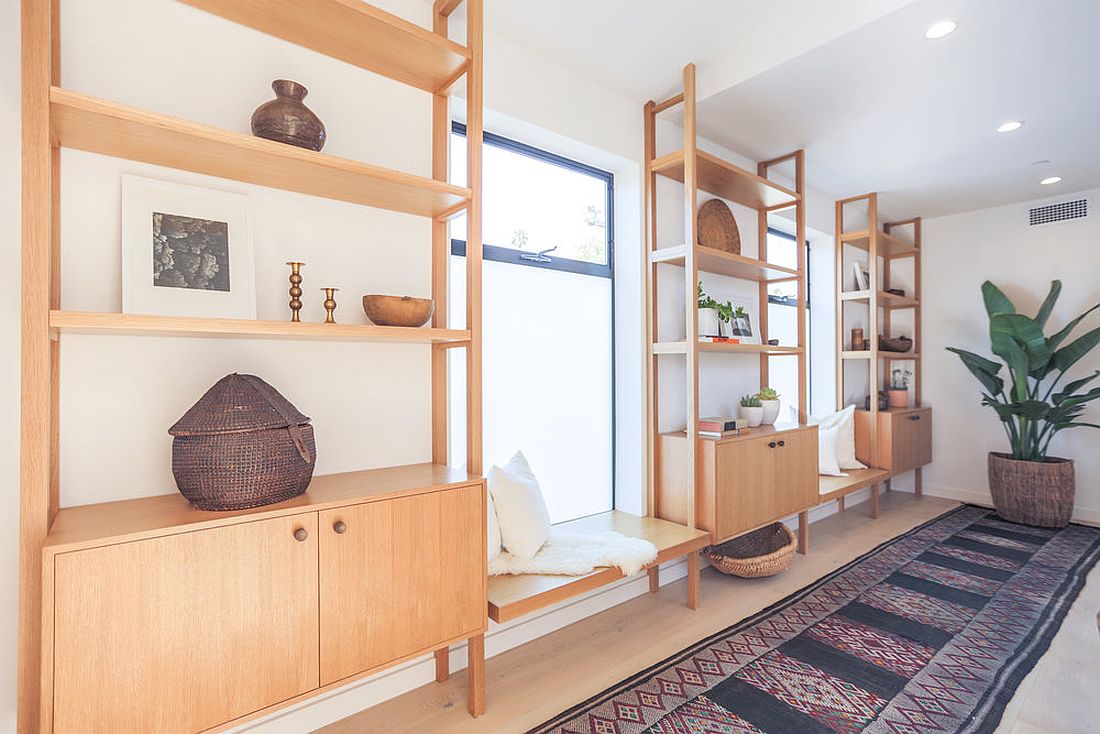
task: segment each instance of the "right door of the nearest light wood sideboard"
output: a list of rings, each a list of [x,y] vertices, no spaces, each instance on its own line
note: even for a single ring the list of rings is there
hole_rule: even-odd
[[[321,684],[485,624],[481,484],[320,513]]]

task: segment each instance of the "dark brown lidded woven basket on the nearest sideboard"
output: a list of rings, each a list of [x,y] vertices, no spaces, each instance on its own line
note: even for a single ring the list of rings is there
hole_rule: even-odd
[[[226,375],[168,432],[176,486],[199,510],[283,502],[314,476],[309,418],[255,375]]]

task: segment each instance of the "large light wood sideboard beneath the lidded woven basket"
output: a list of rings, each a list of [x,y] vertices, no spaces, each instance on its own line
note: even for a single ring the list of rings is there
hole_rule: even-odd
[[[234,513],[174,495],[61,511],[42,731],[221,731],[484,634],[484,507],[481,479],[416,464]]]

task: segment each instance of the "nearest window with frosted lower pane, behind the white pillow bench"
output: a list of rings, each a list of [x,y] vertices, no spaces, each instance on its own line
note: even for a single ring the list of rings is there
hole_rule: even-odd
[[[613,176],[488,133],[482,166],[485,468],[522,450],[552,522],[606,512],[615,465]],[[463,184],[461,124],[451,168]],[[449,316],[462,324],[463,218],[451,237]],[[451,350],[449,366],[451,451],[460,457],[462,350]]]

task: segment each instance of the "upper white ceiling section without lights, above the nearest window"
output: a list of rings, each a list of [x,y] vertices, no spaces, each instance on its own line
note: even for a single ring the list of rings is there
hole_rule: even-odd
[[[485,28],[639,105],[698,66],[700,98],[913,0],[487,0]]]

